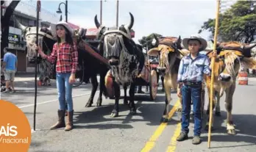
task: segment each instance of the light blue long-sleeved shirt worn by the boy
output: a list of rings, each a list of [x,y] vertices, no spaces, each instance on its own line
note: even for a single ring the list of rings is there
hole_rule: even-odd
[[[191,55],[183,57],[179,64],[177,82],[202,82],[203,73],[210,75],[210,61],[204,54],[199,54],[195,59]]]

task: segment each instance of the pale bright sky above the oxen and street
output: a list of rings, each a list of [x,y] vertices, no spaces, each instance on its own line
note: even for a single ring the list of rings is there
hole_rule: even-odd
[[[25,1],[25,0],[23,0]],[[35,4],[35,0],[29,0],[29,4]],[[41,1],[43,10],[54,13],[60,2],[65,1]],[[216,18],[216,0],[120,0],[118,25],[128,24],[129,12],[135,18],[132,29],[135,31],[135,42],[152,32],[163,36],[185,38],[198,35],[198,31],[208,18]],[[60,6],[65,19],[65,6]],[[116,1],[106,0],[102,2],[102,23],[105,26],[115,26]],[[68,22],[83,28],[95,28],[94,16],[100,15],[100,1],[68,1]],[[210,33],[202,32],[202,37],[208,40]]]

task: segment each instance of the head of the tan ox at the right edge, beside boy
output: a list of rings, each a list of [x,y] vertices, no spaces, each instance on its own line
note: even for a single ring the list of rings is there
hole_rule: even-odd
[[[250,51],[256,46],[238,42],[217,43],[218,57],[214,75],[223,87],[229,87],[235,82],[241,65],[246,68],[256,68],[256,61],[251,58]],[[211,57],[211,53],[207,54]]]

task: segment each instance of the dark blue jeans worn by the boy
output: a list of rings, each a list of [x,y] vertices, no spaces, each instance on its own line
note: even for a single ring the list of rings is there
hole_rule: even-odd
[[[200,136],[202,129],[201,117],[202,84],[182,86],[182,131],[188,134],[191,113],[191,99],[193,101],[194,136]]]

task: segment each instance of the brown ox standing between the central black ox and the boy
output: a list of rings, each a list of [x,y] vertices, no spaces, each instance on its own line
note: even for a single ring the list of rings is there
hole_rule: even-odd
[[[185,53],[179,49],[181,47],[180,37],[159,37],[154,35],[157,48],[152,48],[148,51],[149,56],[160,55],[158,72],[163,76],[164,90],[166,93],[166,107],[163,112],[161,121],[168,121],[169,103],[171,102],[171,88],[177,90],[177,73],[179,70],[179,62]]]

